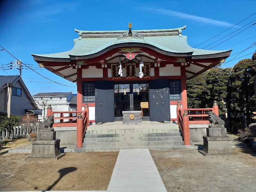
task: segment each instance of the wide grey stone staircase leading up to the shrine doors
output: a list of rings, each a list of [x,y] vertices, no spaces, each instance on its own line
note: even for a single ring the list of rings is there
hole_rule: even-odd
[[[177,124],[143,122],[122,124],[122,122],[90,125],[87,128],[83,148],[75,152],[119,151],[120,149],[191,149],[184,146]]]

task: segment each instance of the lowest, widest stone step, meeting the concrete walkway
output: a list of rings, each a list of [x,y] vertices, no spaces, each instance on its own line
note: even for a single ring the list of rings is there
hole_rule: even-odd
[[[84,152],[95,152],[95,151],[119,151],[120,149],[137,149],[138,147],[83,147],[83,148],[74,148],[76,153]],[[159,149],[195,149],[195,146],[140,146],[140,149],[150,149],[150,150],[159,150]]]

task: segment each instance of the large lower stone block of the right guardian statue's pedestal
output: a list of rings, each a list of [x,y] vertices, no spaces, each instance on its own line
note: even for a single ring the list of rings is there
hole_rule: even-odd
[[[204,148],[199,152],[204,155],[234,154],[232,150],[231,137],[208,137],[203,136]]]

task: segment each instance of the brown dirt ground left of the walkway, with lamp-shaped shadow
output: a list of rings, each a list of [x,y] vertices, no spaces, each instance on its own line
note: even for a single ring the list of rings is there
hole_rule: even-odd
[[[0,191],[107,190],[118,152],[66,153],[58,161],[25,162],[30,154],[0,156]]]

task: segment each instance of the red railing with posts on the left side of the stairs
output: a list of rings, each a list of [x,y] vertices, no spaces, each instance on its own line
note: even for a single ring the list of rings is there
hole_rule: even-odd
[[[73,114],[76,113],[76,116]],[[47,117],[49,115],[60,114],[60,117],[54,117],[54,120],[60,119],[59,123],[53,123],[52,127],[76,127],[76,147],[83,147],[83,138],[87,127],[89,126],[89,108],[85,104],[84,111],[52,111],[51,105],[47,108]],[[64,114],[68,116],[64,117]],[[64,120],[68,121],[64,121]]]

